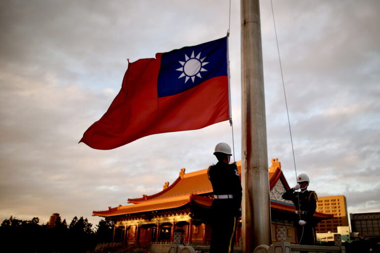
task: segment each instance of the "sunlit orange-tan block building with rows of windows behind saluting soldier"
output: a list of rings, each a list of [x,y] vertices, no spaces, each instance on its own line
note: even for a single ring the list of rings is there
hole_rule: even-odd
[[[316,211],[334,215],[332,219],[318,223],[315,228],[317,233],[337,232],[338,226],[348,226],[347,201],[343,195],[318,196]]]

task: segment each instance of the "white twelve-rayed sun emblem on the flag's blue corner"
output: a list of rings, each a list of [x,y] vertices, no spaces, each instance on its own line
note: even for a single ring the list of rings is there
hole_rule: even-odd
[[[202,78],[200,75],[200,72],[207,71],[203,68],[204,65],[206,65],[208,62],[203,62],[206,57],[199,59],[200,58],[200,52],[196,57],[194,57],[194,51],[192,51],[191,56],[187,56],[185,54],[185,61],[179,61],[182,65],[181,68],[176,69],[177,71],[182,71],[181,76],[179,77],[186,77],[185,79],[185,84],[188,82],[188,80],[191,78],[192,83],[194,83],[195,76]]]

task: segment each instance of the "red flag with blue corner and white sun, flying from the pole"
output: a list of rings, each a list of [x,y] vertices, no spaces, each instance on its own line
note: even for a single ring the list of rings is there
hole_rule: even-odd
[[[129,63],[119,94],[80,142],[113,149],[230,118],[227,37]]]

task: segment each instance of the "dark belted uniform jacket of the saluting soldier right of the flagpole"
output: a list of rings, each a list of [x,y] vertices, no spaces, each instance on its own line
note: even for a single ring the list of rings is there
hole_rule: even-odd
[[[283,194],[283,199],[292,201],[296,210],[304,211],[304,213],[301,214],[301,220],[309,224],[314,224],[313,214],[318,202],[315,191],[306,190],[304,192],[295,192],[294,189],[291,188]]]

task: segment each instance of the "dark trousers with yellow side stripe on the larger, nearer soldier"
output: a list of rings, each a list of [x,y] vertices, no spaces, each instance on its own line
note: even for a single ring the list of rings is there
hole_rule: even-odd
[[[236,200],[214,199],[211,206],[210,253],[232,253],[238,223]]]

